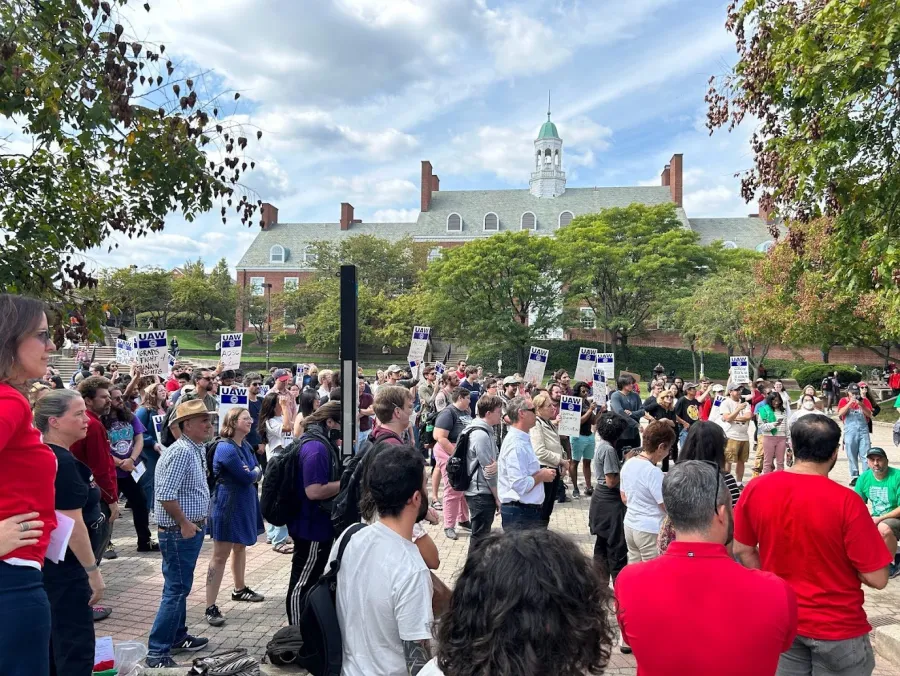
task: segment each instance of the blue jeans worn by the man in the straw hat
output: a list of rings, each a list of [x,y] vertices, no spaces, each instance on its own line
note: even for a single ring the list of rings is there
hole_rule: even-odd
[[[187,597],[194,584],[194,568],[203,547],[204,533],[205,529],[201,529],[185,540],[177,528],[159,531],[164,583],[159,611],[150,630],[149,657],[168,655],[172,646],[187,636]]]

